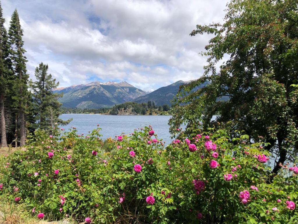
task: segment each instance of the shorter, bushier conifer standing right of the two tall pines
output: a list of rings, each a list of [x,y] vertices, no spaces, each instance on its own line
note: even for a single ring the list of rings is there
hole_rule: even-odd
[[[30,88],[33,91],[33,111],[35,111],[36,128],[49,129],[56,124],[68,124],[70,120],[63,121],[59,119],[61,114],[61,103],[58,98],[62,97],[63,93],[53,93],[53,89],[57,88],[59,82],[48,74],[48,65],[40,63],[35,69],[36,81],[30,81]]]

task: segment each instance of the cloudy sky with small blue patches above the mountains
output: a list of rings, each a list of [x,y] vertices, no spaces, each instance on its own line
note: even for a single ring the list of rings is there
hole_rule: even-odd
[[[228,0],[1,0],[5,26],[18,10],[27,70],[40,62],[60,87],[126,81],[153,91],[199,78],[210,35],[196,24],[222,22]]]

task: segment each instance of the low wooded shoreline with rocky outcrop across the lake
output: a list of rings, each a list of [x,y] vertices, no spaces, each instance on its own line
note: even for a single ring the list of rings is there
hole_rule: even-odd
[[[112,108],[80,109],[62,107],[62,113],[103,113],[110,115],[139,114],[139,115],[167,115],[170,107],[168,105],[156,106],[154,102],[147,103],[125,102],[114,105]]]

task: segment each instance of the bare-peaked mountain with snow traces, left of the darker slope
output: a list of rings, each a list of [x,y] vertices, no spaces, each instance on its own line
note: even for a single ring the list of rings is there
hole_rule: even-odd
[[[63,93],[59,99],[63,107],[81,109],[111,107],[146,94],[127,82],[91,82],[55,89],[54,92]]]

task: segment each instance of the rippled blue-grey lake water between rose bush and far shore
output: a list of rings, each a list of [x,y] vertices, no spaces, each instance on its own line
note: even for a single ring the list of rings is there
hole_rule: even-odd
[[[151,125],[159,139],[163,139],[167,144],[172,140],[169,133],[168,121],[171,116],[122,116],[122,115],[100,115],[100,114],[62,114],[59,118],[67,120],[72,118],[73,120],[63,126],[65,130],[71,127],[77,128],[78,134],[88,134],[88,131],[92,131],[97,128],[97,124],[102,128],[102,139],[108,137],[115,137],[121,135],[122,132],[130,134],[134,132],[136,128],[142,128]]]

